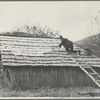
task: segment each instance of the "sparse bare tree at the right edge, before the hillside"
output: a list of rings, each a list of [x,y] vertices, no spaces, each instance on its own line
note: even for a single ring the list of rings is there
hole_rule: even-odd
[[[100,56],[100,11],[91,23],[91,28],[88,29],[88,38],[84,39],[85,48],[91,49],[94,54]]]

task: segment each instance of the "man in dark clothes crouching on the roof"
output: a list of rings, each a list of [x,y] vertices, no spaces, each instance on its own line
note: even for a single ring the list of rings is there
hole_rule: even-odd
[[[68,53],[77,53],[78,52],[80,55],[80,50],[78,50],[78,51],[73,50],[73,42],[72,41],[63,38],[62,36],[60,36],[59,39],[61,40],[61,43],[58,45],[59,48],[61,48],[61,46],[63,45]]]

